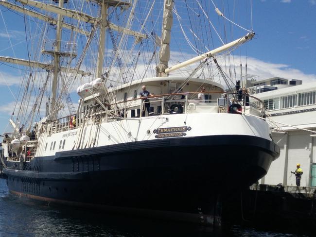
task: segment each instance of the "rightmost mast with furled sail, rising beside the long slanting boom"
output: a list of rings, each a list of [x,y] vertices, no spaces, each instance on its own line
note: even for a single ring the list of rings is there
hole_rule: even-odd
[[[168,76],[165,69],[168,68],[168,62],[170,59],[170,39],[171,39],[171,27],[173,23],[172,8],[174,7],[173,0],[165,0],[163,6],[163,22],[161,33],[161,47],[159,52],[159,65],[156,68],[157,76]]]

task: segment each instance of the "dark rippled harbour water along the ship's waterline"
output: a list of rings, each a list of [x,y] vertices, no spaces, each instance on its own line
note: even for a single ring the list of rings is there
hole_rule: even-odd
[[[0,237],[312,237],[231,226],[221,231],[186,223],[105,215],[47,206],[9,194],[0,179]]]

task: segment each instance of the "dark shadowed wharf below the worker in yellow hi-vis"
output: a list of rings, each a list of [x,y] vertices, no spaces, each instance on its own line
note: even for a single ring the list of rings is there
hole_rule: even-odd
[[[316,187],[254,184],[222,204],[224,222],[308,228],[316,224]]]

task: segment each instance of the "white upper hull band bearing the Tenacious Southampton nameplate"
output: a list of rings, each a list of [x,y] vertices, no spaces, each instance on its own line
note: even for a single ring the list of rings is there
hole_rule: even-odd
[[[187,130],[185,127],[190,128]],[[168,138],[161,137],[161,134],[158,136],[159,128],[177,128],[161,133],[172,134],[175,137],[249,135],[271,140],[268,124],[263,119],[250,116],[226,113],[161,115],[102,122],[97,125],[84,124],[81,128],[70,131],[43,134],[39,138],[35,156],[52,156],[60,151]],[[186,131],[182,131],[181,128]],[[184,132],[185,135],[175,134],[176,132]]]

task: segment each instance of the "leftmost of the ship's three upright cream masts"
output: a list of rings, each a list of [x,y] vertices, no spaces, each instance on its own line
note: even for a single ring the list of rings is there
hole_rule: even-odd
[[[63,8],[64,0],[59,0],[58,6]],[[63,17],[58,14],[57,17],[57,29],[56,29],[56,41],[55,41],[55,53],[54,53],[54,74],[52,82],[52,107],[51,112],[55,109],[56,97],[57,97],[57,82],[58,82],[58,72],[59,72],[59,61],[60,61],[60,44],[61,44],[61,34],[62,34],[62,21]]]

